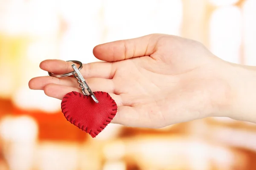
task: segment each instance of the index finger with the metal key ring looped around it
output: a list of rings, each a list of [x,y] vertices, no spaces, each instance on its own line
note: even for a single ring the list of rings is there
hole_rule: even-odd
[[[59,59],[47,59],[42,61],[39,67],[44,71],[49,71],[54,74],[65,74],[74,71],[71,66],[73,64],[79,68],[79,65],[73,62],[66,62]],[[83,68],[81,68],[79,71],[84,78],[100,77],[112,79],[115,68],[111,62],[91,62],[83,64]]]

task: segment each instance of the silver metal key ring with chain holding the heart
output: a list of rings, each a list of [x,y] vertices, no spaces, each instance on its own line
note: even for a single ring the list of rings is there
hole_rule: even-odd
[[[76,65],[73,64],[72,68],[73,68],[74,71],[72,71],[70,73],[66,73],[66,74],[53,74],[53,73],[50,73],[48,71],[49,76],[60,78],[60,77],[68,77],[68,76],[74,75],[74,77],[76,77],[78,79],[77,82],[79,83],[79,87],[81,88],[84,96],[88,96],[88,94],[85,92],[85,88],[86,88],[86,90],[89,92],[90,96],[93,98],[94,102],[99,103],[98,99],[93,94],[93,92],[91,91],[91,89],[88,86],[88,84],[85,82],[84,77],[79,72],[79,70],[81,68],[83,68],[83,64],[80,61],[76,61],[76,60],[69,60],[69,61],[66,61],[66,62],[74,62],[76,64],[79,64],[79,68],[77,68]]]

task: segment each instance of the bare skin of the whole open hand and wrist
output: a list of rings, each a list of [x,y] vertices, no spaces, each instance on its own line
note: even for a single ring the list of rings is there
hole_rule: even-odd
[[[92,91],[116,101],[111,123],[160,128],[209,116],[256,122],[256,68],[221,60],[197,41],[150,34],[97,45],[93,54],[102,62],[84,64],[80,72]],[[40,68],[64,74],[72,64],[49,59]],[[35,77],[29,88],[60,100],[81,92],[74,77]]]

